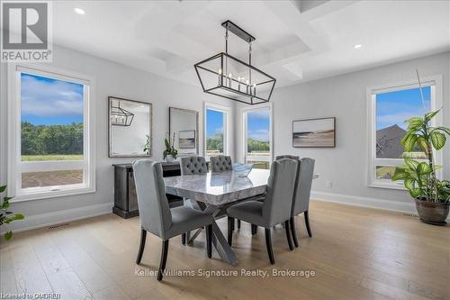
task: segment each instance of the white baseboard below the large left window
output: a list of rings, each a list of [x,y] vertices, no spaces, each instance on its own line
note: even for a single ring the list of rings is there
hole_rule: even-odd
[[[1,234],[7,231],[25,232],[32,229],[49,227],[59,223],[67,223],[82,220],[102,214],[111,214],[113,203],[100,205],[88,205],[47,214],[35,214],[26,216],[25,219],[14,221],[8,227],[2,228]]]

